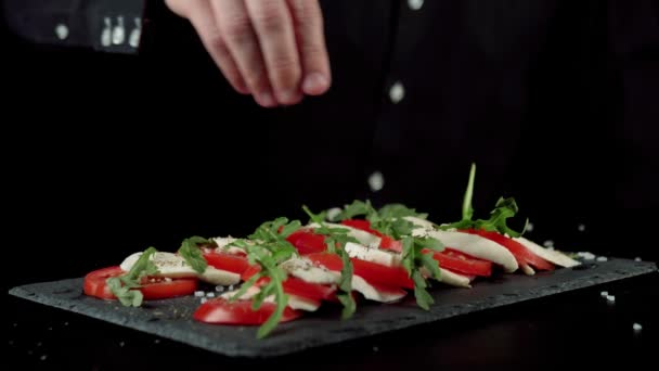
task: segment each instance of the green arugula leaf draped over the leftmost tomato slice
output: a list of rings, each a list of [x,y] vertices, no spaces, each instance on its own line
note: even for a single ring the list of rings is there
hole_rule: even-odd
[[[148,247],[140,255],[130,270],[122,276],[113,277],[105,280],[112,293],[127,307],[139,307],[142,305],[144,296],[139,289],[142,287],[142,278],[156,274],[157,267],[151,261],[151,256],[157,251]]]

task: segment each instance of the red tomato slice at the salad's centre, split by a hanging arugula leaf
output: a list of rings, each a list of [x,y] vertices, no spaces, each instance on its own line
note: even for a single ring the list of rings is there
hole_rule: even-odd
[[[344,263],[338,255],[330,253],[316,253],[307,255],[315,263],[333,271],[340,271]],[[414,289],[414,282],[402,267],[386,267],[379,264],[350,258],[353,273],[363,278],[369,283],[380,283],[393,287]]]

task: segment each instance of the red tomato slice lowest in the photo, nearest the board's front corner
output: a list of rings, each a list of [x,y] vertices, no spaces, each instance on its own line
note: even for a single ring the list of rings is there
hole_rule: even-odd
[[[258,310],[251,310],[251,300],[230,303],[227,299],[217,298],[202,304],[192,318],[206,323],[262,324],[274,312],[275,308],[274,303],[262,303]],[[292,321],[300,316],[302,316],[301,311],[286,307],[281,321]]]

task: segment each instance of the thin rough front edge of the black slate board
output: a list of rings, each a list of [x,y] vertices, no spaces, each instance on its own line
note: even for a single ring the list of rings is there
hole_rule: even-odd
[[[593,283],[593,281],[574,280],[569,283],[569,290],[565,290],[565,289],[561,290],[560,287],[556,287],[554,290],[552,290],[551,287],[550,289],[539,287],[539,289],[542,289],[542,290],[540,290],[541,293],[538,293],[535,296],[528,296],[528,297],[519,298],[519,297],[514,297],[514,296],[506,297],[504,295],[504,296],[500,297],[494,304],[489,305],[487,309],[507,306],[507,305],[511,305],[514,303],[528,302],[531,299],[546,297],[546,296],[551,296],[554,294],[563,293],[563,292],[570,292],[570,291],[585,289],[589,286],[600,285],[600,284],[605,284],[605,283],[609,283],[609,282],[613,282],[613,281],[620,281],[620,280],[632,278],[632,277],[644,276],[644,274],[656,272],[658,270],[656,264],[654,264],[654,263],[649,263],[649,264],[645,265],[643,268],[644,268],[643,270],[635,270],[635,271],[631,271],[631,272],[630,271],[623,272],[623,273],[617,272],[616,274],[612,274],[612,273],[605,274],[604,277],[599,276],[598,279],[596,280],[596,282],[594,282],[594,283]],[[69,280],[76,280],[76,279],[69,279]],[[66,281],[66,280],[63,280],[63,281]],[[46,283],[46,282],[41,282],[41,283]],[[408,329],[408,328],[411,328],[414,325],[436,322],[441,319],[455,318],[455,317],[464,316],[466,314],[474,311],[474,310],[470,310],[468,307],[463,306],[462,308],[456,309],[453,312],[450,312],[450,314],[444,312],[443,315],[437,316],[432,319],[417,319],[417,318],[414,318],[413,316],[411,316],[410,318],[402,318],[398,322],[393,322],[386,329],[380,328],[380,329],[371,330],[371,331],[366,330],[366,329],[361,329],[361,331],[357,331],[359,329],[352,329],[353,331],[350,331],[350,333],[351,333],[350,335],[345,335],[345,336],[337,335],[332,341],[325,340],[322,342],[315,342],[315,341],[311,340],[310,343],[306,343],[305,345],[289,346],[286,348],[267,347],[267,346],[260,347],[259,346],[256,348],[240,348],[240,347],[227,348],[227,347],[224,347],[222,349],[219,349],[219,348],[210,345],[210,344],[212,344],[212,342],[204,341],[204,338],[202,338],[202,337],[199,337],[199,338],[193,337],[193,338],[188,338],[186,341],[183,341],[183,338],[181,338],[181,336],[172,336],[171,332],[168,330],[168,327],[165,325],[165,323],[154,324],[154,323],[143,322],[143,321],[139,321],[139,320],[131,321],[130,317],[122,317],[121,320],[117,320],[115,318],[112,318],[112,319],[103,318],[103,317],[96,316],[95,314],[85,312],[85,311],[78,309],[76,305],[72,306],[70,304],[68,304],[65,300],[62,300],[57,297],[51,296],[50,298],[48,298],[48,297],[44,298],[43,297],[44,295],[36,294],[35,292],[31,292],[29,290],[29,286],[37,285],[37,284],[39,284],[39,283],[31,283],[31,284],[25,284],[25,285],[13,287],[9,291],[9,294],[27,299],[27,300],[31,300],[35,303],[39,303],[42,305],[47,305],[47,306],[55,307],[59,309],[72,311],[72,312],[75,312],[78,315],[82,315],[86,317],[99,319],[99,320],[102,320],[102,321],[105,321],[108,323],[113,323],[113,324],[117,324],[117,325],[121,325],[121,327],[128,327],[129,329],[132,329],[132,330],[138,330],[138,331],[141,331],[144,333],[158,335],[164,338],[169,338],[175,342],[184,343],[184,344],[188,344],[188,345],[191,345],[194,347],[198,347],[198,348],[211,351],[211,353],[221,354],[221,355],[229,356],[229,357],[246,357],[246,358],[270,358],[270,357],[276,357],[276,356],[284,356],[287,354],[298,353],[298,351],[309,349],[309,348],[337,344],[343,341],[363,338],[366,336],[377,335],[377,334],[391,332],[391,331],[396,331],[396,330]],[[54,298],[54,300],[53,300],[53,298]],[[479,306],[481,303],[488,302],[489,299],[490,298],[484,298],[481,300],[474,300],[471,303],[471,306]],[[255,342],[257,342],[257,340],[255,340]],[[266,345],[264,343],[261,343],[261,344]]]

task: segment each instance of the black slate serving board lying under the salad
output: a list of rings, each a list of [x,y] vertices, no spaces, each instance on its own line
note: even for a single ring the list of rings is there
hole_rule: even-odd
[[[280,324],[268,338],[260,341],[255,338],[255,327],[210,325],[193,321],[192,312],[199,305],[199,298],[196,297],[150,302],[142,308],[126,308],[116,302],[85,296],[81,292],[82,279],[27,284],[12,289],[10,294],[225,356],[262,358],[656,271],[654,263],[610,259],[533,277],[505,274],[490,281],[475,282],[470,290],[437,287],[432,291],[436,304],[429,311],[418,309],[413,295],[393,305],[362,302],[356,316],[347,321],[338,318],[338,308],[322,308],[321,312]]]

